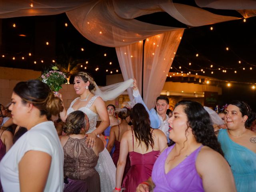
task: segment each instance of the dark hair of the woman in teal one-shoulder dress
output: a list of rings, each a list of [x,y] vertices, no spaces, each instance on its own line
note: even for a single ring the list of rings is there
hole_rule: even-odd
[[[240,112],[242,113],[242,116],[247,115],[248,119],[245,122],[245,127],[246,128],[250,128],[250,126],[252,125],[252,122],[254,122],[255,118],[256,118],[256,114],[252,111],[252,109],[250,108],[250,106],[243,101],[232,101],[230,103],[230,105],[235,105],[239,108]]]

